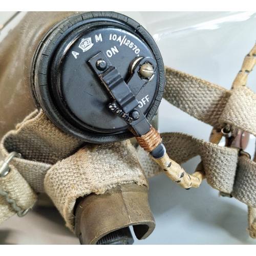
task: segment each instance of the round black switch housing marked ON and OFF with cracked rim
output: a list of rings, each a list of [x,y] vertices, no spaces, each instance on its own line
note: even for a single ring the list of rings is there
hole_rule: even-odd
[[[151,121],[165,83],[161,54],[142,26],[119,13],[79,13],[54,26],[35,54],[33,93],[50,120],[72,136],[93,143],[131,138],[130,124],[108,108],[116,102],[113,92],[90,65],[99,53],[104,57],[93,64],[96,70],[115,69],[138,102],[126,114],[136,119],[140,109]]]

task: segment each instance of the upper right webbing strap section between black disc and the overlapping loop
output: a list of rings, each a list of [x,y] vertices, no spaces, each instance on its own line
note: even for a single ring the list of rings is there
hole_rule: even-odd
[[[220,116],[231,92],[198,77],[165,67],[163,97],[190,116],[221,129]]]

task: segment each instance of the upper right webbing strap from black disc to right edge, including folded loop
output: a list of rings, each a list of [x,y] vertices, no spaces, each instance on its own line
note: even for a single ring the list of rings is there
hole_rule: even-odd
[[[229,123],[256,136],[256,95],[248,87],[228,91],[172,68],[165,72],[168,102],[216,129]]]

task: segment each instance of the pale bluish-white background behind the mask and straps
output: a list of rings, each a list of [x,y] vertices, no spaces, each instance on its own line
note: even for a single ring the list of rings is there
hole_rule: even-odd
[[[244,56],[256,40],[256,12],[121,12],[140,22],[155,38],[168,67],[231,88]],[[6,19],[0,12],[0,22]],[[3,36],[3,33],[0,33]],[[248,86],[256,92],[256,73]],[[159,108],[160,132],[182,132],[208,141],[211,127],[165,100]],[[251,136],[247,152],[254,154]],[[193,173],[200,158],[182,165]],[[185,190],[161,174],[150,179],[149,201],[156,229],[134,244],[256,244],[249,237],[247,206],[219,197],[206,180]],[[37,207],[23,219],[0,226],[0,244],[79,244],[54,208]]]

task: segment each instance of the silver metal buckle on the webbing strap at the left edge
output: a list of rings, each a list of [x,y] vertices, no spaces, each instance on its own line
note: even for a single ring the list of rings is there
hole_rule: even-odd
[[[20,155],[17,152],[12,152],[10,153],[4,161],[0,162],[0,177],[5,177],[9,172],[10,172],[10,167],[9,167],[9,163],[11,162],[11,160],[14,157],[21,157],[22,155]],[[25,216],[28,211],[30,210],[30,208],[26,209],[26,210],[22,210],[22,208],[20,208],[19,206],[17,206],[16,201],[12,198],[10,198],[9,194],[3,190],[3,187],[0,185],[0,195],[3,196],[5,198],[5,201],[11,205],[12,209],[14,211],[16,211],[18,217],[23,217]]]

